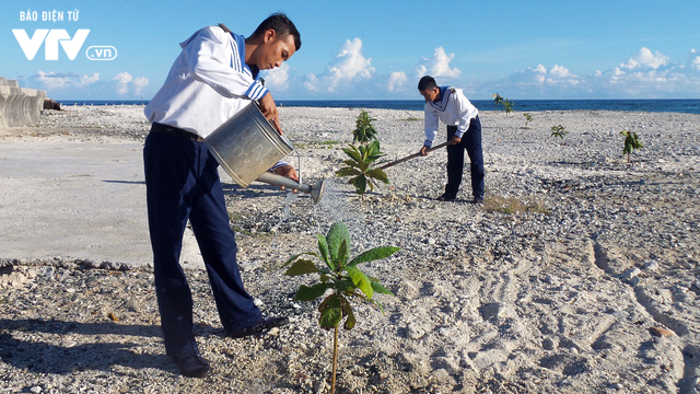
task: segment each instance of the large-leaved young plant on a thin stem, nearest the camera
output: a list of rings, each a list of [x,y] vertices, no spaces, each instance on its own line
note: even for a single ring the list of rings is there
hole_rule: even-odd
[[[313,286],[302,285],[299,288],[294,296],[296,301],[313,301],[323,297],[326,291],[332,290],[318,305],[318,312],[320,312],[318,324],[322,328],[334,329],[331,393],[336,392],[338,326],[343,318],[346,329],[352,329],[357,323],[350,301],[366,301],[384,312],[384,308],[374,299],[374,294],[394,296],[380,283],[378,279],[366,276],[358,266],[362,263],[388,257],[397,251],[399,251],[398,247],[380,246],[363,252],[351,259],[350,233],[346,224],[338,221],[330,227],[326,236],[318,234],[318,253],[301,253],[284,263],[284,267],[289,267],[284,273],[288,276],[319,274],[319,282]],[[302,258],[304,255],[316,257],[320,260],[322,267],[318,268],[316,263]]]

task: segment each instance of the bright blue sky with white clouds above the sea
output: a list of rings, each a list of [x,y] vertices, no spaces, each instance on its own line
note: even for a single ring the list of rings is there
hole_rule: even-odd
[[[425,73],[475,100],[495,92],[511,100],[700,99],[697,0],[91,0],[0,7],[0,77],[57,100],[149,100],[178,43],[191,33],[223,22],[247,36],[277,11],[294,21],[302,48],[282,68],[264,72],[276,99],[420,100],[416,85]],[[36,39],[32,60],[13,30]],[[42,44],[40,30],[63,30],[71,38],[79,30],[90,32],[71,60],[63,42]],[[110,47],[117,56],[90,60],[90,47]],[[58,60],[47,60],[56,48]]]

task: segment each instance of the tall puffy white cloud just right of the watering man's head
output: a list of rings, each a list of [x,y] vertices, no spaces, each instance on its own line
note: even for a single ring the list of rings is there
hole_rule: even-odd
[[[326,66],[326,71],[320,77],[308,74],[304,86],[310,91],[335,92],[340,85],[370,80],[374,71],[372,59],[362,55],[362,40],[355,37],[345,42],[336,59]]]

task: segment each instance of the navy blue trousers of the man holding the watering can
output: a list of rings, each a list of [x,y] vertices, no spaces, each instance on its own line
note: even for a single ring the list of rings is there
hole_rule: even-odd
[[[197,348],[191,292],[179,265],[187,220],[199,244],[223,328],[245,328],[262,317],[243,287],[219,164],[206,144],[151,131],[143,148],[143,164],[165,349],[171,357],[187,357]]]

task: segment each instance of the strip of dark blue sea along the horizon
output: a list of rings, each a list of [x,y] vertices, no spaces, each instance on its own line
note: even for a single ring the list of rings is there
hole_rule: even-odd
[[[144,100],[65,100],[61,105],[145,105]],[[480,111],[497,109],[492,100],[471,100]],[[422,100],[277,100],[279,106],[422,111]],[[498,111],[503,111],[502,106]],[[515,112],[627,111],[700,114],[700,99],[514,100]]]

